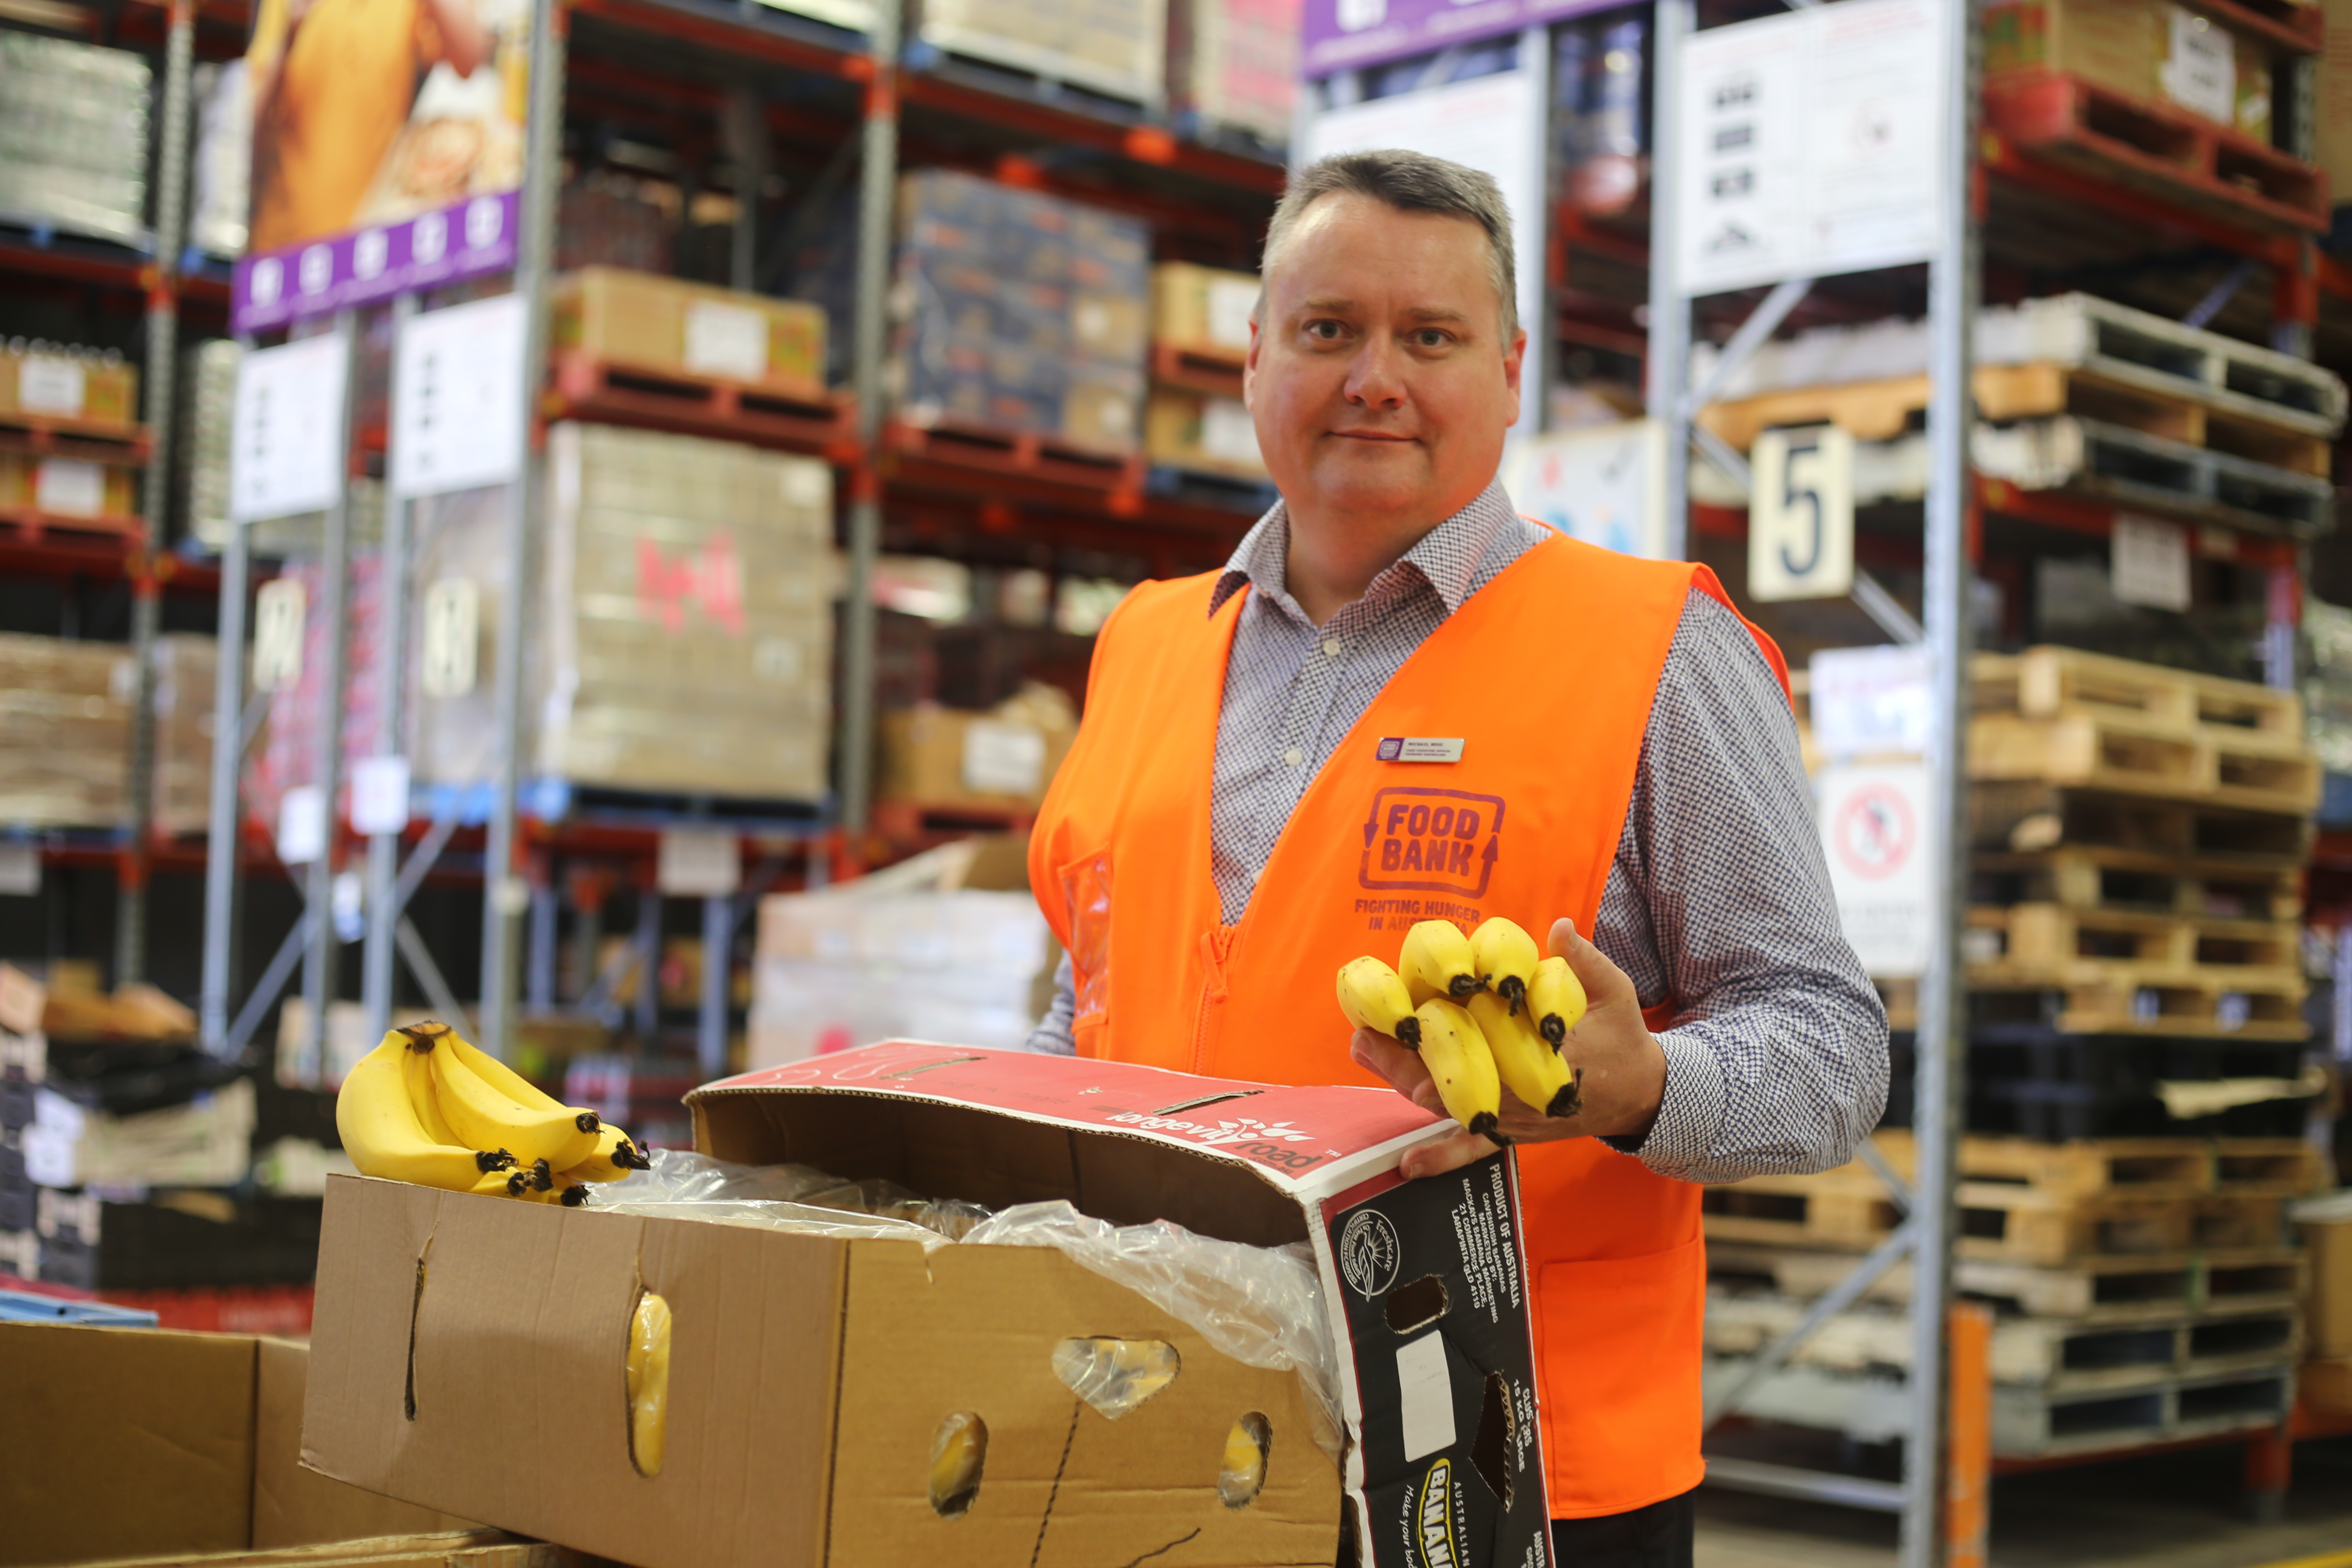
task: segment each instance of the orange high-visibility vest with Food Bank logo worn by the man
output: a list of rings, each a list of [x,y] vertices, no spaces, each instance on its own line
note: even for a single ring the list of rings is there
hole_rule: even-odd
[[[1331,976],[1359,952],[1392,959],[1416,919],[1508,914],[1541,943],[1569,914],[1590,933],[1668,644],[1693,585],[1724,590],[1689,562],[1531,548],[1374,698],[1228,926],[1209,778],[1247,590],[1209,616],[1214,583],[1145,583],[1103,625],[1084,724],[1030,839],[1030,886],[1075,969],[1077,1048],[1270,1084],[1376,1081],[1348,1058]],[[1404,738],[1458,741],[1461,762],[1406,762]],[[1519,1194],[1552,1516],[1691,1490],[1698,1187],[1578,1138],[1524,1145]]]

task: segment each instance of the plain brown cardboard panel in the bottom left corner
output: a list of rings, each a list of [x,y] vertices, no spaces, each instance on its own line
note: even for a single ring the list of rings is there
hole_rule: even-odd
[[[0,1563],[242,1552],[254,1340],[0,1324]]]

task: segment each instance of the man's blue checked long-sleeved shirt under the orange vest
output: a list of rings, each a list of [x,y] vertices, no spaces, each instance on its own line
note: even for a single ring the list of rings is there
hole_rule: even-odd
[[[1501,484],[1364,597],[1315,625],[1289,595],[1277,503],[1242,538],[1211,614],[1251,585],[1225,665],[1209,799],[1225,922],[1249,907],[1291,809],[1414,649],[1548,529]],[[1828,1171],[1886,1110],[1886,1011],[1837,929],[1813,797],[1780,682],[1738,616],[1691,592],[1658,675],[1592,943],[1644,1006],[1677,1001],[1649,1138],[1609,1143],[1691,1182]],[[1536,933],[1541,940],[1541,931]],[[1033,1051],[1068,1056],[1070,959]]]

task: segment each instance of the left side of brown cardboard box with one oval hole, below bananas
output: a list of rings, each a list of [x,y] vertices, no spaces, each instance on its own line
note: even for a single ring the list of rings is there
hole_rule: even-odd
[[[303,1465],[640,1568],[818,1568],[844,1267],[823,1237],[329,1178]],[[652,1479],[640,1288],[675,1324]]]

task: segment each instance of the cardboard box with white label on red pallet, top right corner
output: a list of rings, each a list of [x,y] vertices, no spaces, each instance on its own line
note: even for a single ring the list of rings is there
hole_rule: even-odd
[[[2171,0],[1994,0],[1985,73],[2063,71],[2270,143],[2270,45]]]

